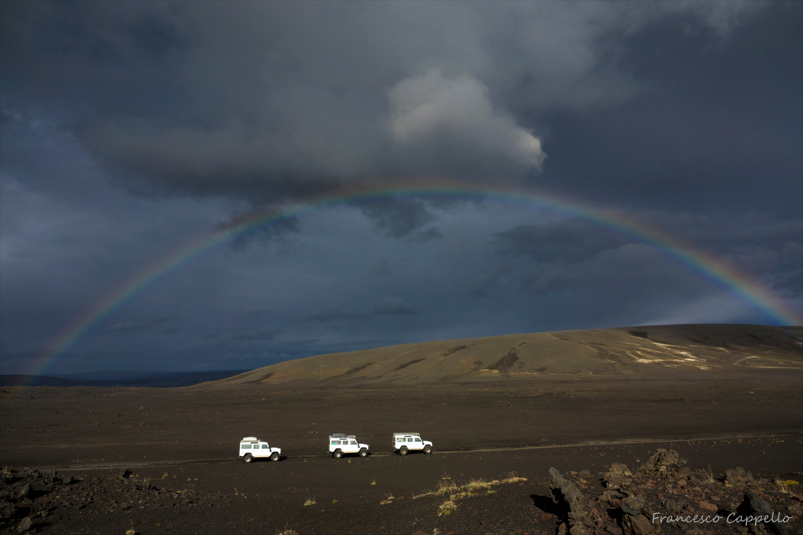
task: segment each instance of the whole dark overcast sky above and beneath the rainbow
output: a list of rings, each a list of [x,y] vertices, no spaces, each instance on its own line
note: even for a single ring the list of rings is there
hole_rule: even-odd
[[[803,310],[803,2],[11,2],[0,367],[260,210],[467,184],[643,221]],[[251,369],[443,338],[777,323],[642,238],[382,197],[157,278],[49,372]]]

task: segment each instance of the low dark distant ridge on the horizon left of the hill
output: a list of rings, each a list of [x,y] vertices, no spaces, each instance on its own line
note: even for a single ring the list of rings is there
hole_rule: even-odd
[[[61,375],[0,375],[2,387],[188,387],[248,370],[88,371]]]

